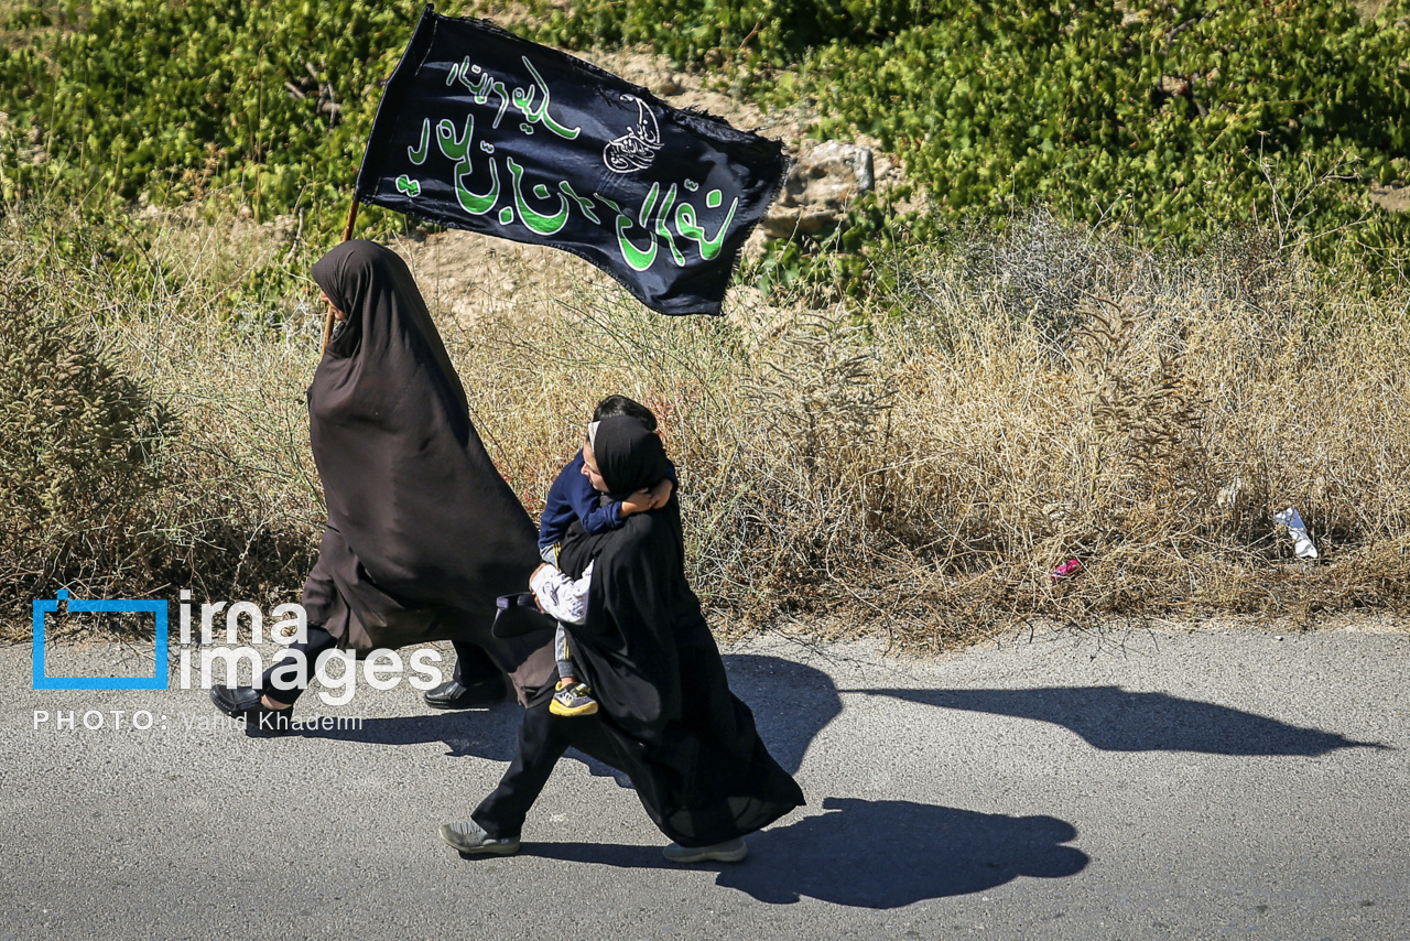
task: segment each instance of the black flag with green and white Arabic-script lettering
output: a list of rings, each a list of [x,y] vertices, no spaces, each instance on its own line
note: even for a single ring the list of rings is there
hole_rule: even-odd
[[[357,198],[571,251],[661,313],[719,313],[785,164],[777,141],[427,6],[378,106]]]

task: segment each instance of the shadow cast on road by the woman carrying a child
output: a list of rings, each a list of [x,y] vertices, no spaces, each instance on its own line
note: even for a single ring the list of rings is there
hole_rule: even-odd
[[[823,814],[749,838],[715,885],[759,901],[804,896],[860,909],[897,909],[924,899],[984,892],[1018,876],[1060,879],[1081,872],[1087,854],[1063,844],[1077,830],[1056,817],[1005,817],[905,800],[828,797]],[[658,846],[526,842],[526,855],[625,869],[680,869]]]

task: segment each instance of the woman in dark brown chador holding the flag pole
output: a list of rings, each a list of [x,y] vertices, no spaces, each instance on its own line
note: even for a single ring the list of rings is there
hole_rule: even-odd
[[[491,635],[495,598],[537,563],[533,522],[470,422],[465,391],[416,281],[396,253],[345,241],[313,265],[338,329],[309,387],[309,433],[329,509],[319,560],[303,585],[302,649],[319,653],[454,642],[454,677],[427,704],[461,708],[505,697],[508,674],[527,703],[553,673],[553,633]],[[247,729],[279,734],[307,680],[293,659],[262,690],[212,688]],[[551,683],[548,684],[551,688]]]

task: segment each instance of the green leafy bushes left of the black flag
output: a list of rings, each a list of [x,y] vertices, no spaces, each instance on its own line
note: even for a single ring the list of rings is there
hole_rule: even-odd
[[[237,185],[257,217],[302,205],[334,229],[415,13],[365,0],[97,0],[80,30],[0,48],[0,110],[16,138],[48,152],[4,162],[21,192],[172,203]]]

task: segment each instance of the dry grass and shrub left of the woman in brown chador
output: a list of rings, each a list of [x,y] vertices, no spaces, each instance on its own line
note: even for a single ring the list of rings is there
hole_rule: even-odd
[[[62,334],[69,358],[104,371],[99,391],[123,389],[125,409],[99,408],[89,384],[45,382],[42,371],[6,389],[11,419],[35,416],[23,440],[7,426],[7,457],[44,456],[38,466],[0,461],[6,607],[61,587],[75,597],[175,598],[185,587],[206,598],[296,597],[321,512],[302,396],[316,316],[307,299],[302,313],[282,312],[299,329],[272,330],[255,312],[214,316],[221,295],[281,251],[278,240],[173,216],[151,248],[114,264],[85,248],[73,217],[13,214],[0,226],[7,351],[25,348],[18,324]],[[55,408],[65,399],[75,402]],[[94,440],[125,463],[94,460]],[[52,497],[31,497],[45,491]]]

